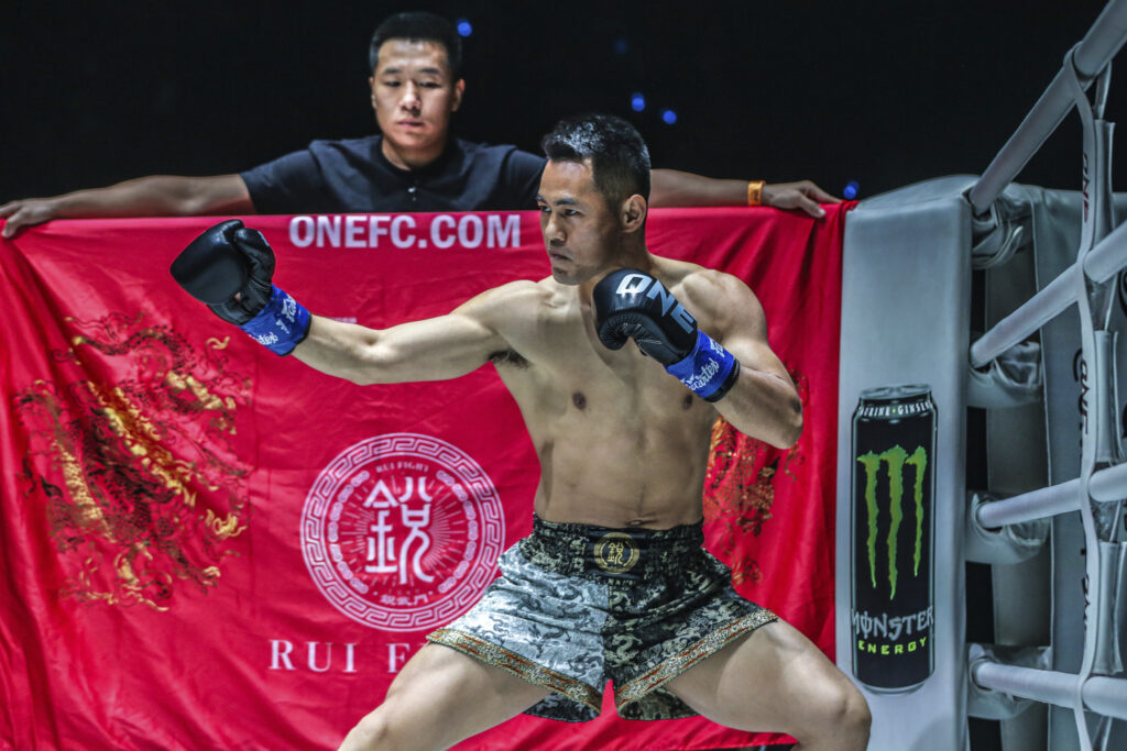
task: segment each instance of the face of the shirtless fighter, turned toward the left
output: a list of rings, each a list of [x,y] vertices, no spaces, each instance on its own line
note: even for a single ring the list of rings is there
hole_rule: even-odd
[[[549,161],[536,194],[540,231],[561,284],[583,284],[605,270],[621,239],[616,212],[595,187],[591,162]]]

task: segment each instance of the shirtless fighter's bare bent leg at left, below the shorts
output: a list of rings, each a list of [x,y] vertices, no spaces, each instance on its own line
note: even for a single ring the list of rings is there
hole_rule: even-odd
[[[515,717],[548,694],[447,646],[426,644],[340,749],[445,749]]]

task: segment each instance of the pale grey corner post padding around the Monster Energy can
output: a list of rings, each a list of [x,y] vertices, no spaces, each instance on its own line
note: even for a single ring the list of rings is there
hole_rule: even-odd
[[[961,179],[939,179],[862,202],[849,213],[842,258],[842,331],[838,366],[837,515],[836,515],[836,660],[859,685],[872,713],[871,749],[950,751],[967,736],[966,689],[966,357],[970,331],[970,207]],[[880,645],[863,638],[870,615],[854,610],[857,576],[868,581],[868,566],[854,570],[852,553],[863,547],[863,516],[858,516],[862,547],[854,548],[853,480],[864,472],[854,456],[853,413],[862,393],[898,384],[926,384],[934,404],[934,492],[931,601],[925,632],[893,627]],[[884,446],[884,445],[881,445]],[[919,449],[915,442],[912,447]],[[909,449],[912,448],[909,447]],[[868,450],[868,449],[867,449]],[[878,449],[871,449],[878,450]],[[857,472],[854,468],[858,468]],[[907,473],[907,470],[905,470]],[[912,475],[906,475],[912,476]],[[862,506],[866,503],[861,500]],[[879,508],[878,508],[879,506]],[[903,512],[923,518],[911,504],[882,494],[875,499],[879,519]],[[897,511],[893,511],[896,507]],[[881,522],[884,524],[884,522]],[[915,524],[905,521],[905,529]],[[913,578],[912,547],[886,540],[873,546],[875,565],[900,572],[900,591],[923,587]],[[922,558],[925,560],[925,558]],[[899,619],[898,619],[899,620]],[[930,634],[926,629],[930,628]],[[857,629],[857,631],[855,631]],[[926,637],[921,645],[920,636]],[[863,646],[859,641],[864,642]],[[930,650],[933,668],[919,682],[888,689],[858,678],[860,650],[877,650],[876,660],[896,660],[895,650]],[[887,652],[880,650],[887,647]],[[871,667],[876,661],[870,661]]]

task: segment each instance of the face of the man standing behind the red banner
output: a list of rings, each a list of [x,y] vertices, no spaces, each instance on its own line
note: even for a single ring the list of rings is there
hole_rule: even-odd
[[[464,81],[453,80],[445,47],[388,39],[369,83],[375,119],[393,151],[442,151],[465,89]]]

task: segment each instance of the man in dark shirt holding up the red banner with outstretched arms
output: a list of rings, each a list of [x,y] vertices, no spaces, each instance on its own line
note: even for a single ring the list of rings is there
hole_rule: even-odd
[[[52,218],[533,211],[544,160],[450,135],[465,82],[461,39],[432,14],[399,14],[372,36],[372,108],[381,134],[314,141],[236,175],[150,176],[0,206],[3,236]],[[766,205],[822,216],[835,203],[809,180],[765,185],[653,170],[650,206]]]

